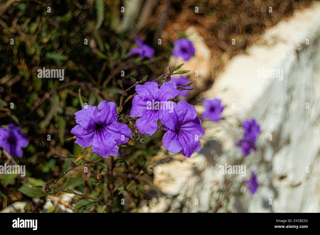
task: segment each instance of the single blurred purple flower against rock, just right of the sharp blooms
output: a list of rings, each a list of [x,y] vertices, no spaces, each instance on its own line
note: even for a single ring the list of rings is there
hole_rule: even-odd
[[[204,113],[202,114],[203,118],[210,119],[212,122],[217,122],[221,120],[221,112],[224,109],[224,106],[221,105],[221,100],[204,100],[202,103],[205,107]]]

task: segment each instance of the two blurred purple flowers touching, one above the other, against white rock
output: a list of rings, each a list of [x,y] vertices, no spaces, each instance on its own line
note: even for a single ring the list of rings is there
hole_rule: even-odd
[[[242,148],[242,154],[247,156],[250,154],[250,150],[257,150],[255,142],[258,135],[260,134],[260,126],[256,124],[256,121],[252,118],[251,120],[245,120],[242,124],[244,128],[244,137],[236,143],[236,146]]]

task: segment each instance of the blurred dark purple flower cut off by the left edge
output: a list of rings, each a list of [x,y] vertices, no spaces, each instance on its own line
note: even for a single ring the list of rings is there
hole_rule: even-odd
[[[4,148],[12,157],[22,157],[21,148],[26,148],[29,144],[27,134],[20,132],[20,127],[13,124],[8,125],[8,129],[0,128],[0,147]]]

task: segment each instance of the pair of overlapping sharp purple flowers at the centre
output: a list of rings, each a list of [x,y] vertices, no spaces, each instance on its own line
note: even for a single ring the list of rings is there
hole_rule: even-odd
[[[200,150],[199,137],[204,135],[201,120],[197,117],[196,109],[186,101],[173,103],[172,109],[148,109],[148,102],[166,102],[178,95],[174,83],[165,82],[158,88],[156,82],[147,82],[136,85],[137,94],[132,100],[131,117],[141,117],[136,121],[140,133],[154,134],[157,130],[157,121],[164,124],[167,131],[162,139],[165,149],[172,153],[181,152],[187,158]]]

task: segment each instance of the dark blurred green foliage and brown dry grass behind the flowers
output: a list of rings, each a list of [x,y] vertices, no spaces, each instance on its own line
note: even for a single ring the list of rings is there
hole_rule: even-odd
[[[206,81],[209,86],[226,62],[244,53],[265,28],[309,2],[0,1],[0,125],[20,126],[30,141],[23,157],[13,160],[26,166],[26,177],[0,175],[0,210],[128,212],[148,204],[148,199],[161,193],[152,185],[153,166],[159,162],[150,158],[160,150],[163,133],[157,132],[152,138],[141,136],[146,138],[143,143],[129,140],[108,169],[107,159],[75,144],[70,134],[81,101],[97,105],[106,100],[119,106],[122,89],[117,80],[126,89],[133,84],[130,77],[140,81],[148,75],[151,81],[162,75],[172,42],[190,25],[196,26],[213,55],[211,76]],[[125,13],[121,12],[123,6]],[[269,6],[277,11],[269,14]],[[195,7],[199,8],[197,17]],[[154,47],[154,61],[126,57],[136,46],[136,35]],[[162,45],[158,45],[158,38]],[[239,42],[236,49],[230,43],[232,38]],[[64,69],[64,80],[38,78],[37,70],[43,67]],[[196,102],[199,92],[191,93],[190,103]],[[131,89],[125,97],[133,93]],[[126,118],[130,108],[129,101],[119,121],[134,131],[134,120]],[[8,161],[1,156],[1,165]],[[84,167],[88,167],[87,173]],[[51,183],[49,194],[36,187],[57,178],[60,180]]]

